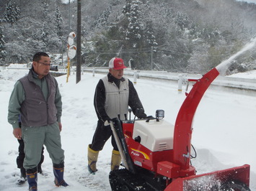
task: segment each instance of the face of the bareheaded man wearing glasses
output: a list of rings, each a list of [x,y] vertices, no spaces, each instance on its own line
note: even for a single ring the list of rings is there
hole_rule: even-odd
[[[38,78],[43,78],[45,75],[48,75],[50,71],[50,57],[41,56],[41,59],[36,62],[33,61],[33,67],[35,73],[37,73]]]

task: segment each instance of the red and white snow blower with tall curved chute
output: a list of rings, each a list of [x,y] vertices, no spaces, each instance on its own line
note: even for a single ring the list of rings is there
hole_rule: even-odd
[[[213,68],[187,93],[175,121],[155,118],[120,121],[110,126],[120,151],[123,169],[110,172],[112,190],[250,190],[250,165],[196,174],[190,164],[192,121],[200,99],[219,75]]]

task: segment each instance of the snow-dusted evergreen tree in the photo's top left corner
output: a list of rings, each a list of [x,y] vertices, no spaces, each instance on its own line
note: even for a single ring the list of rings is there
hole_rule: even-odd
[[[9,1],[6,4],[6,9],[4,11],[4,21],[14,24],[20,17],[19,6],[15,2]]]

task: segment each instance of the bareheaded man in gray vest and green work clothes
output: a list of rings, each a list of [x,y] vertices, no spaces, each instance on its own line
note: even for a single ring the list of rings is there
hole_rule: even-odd
[[[25,144],[23,166],[26,169],[29,190],[37,190],[37,164],[41,159],[43,144],[53,162],[55,185],[68,186],[63,180],[61,94],[56,79],[49,71],[49,55],[45,52],[37,52],[33,57],[30,72],[15,83],[9,100],[9,124],[12,124],[14,136],[23,139]]]

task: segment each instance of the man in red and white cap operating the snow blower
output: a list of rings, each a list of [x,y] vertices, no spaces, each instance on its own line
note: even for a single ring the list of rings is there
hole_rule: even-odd
[[[94,108],[98,122],[92,144],[88,146],[88,170],[92,174],[97,171],[96,162],[99,152],[103,149],[107,139],[112,136],[110,126],[104,126],[105,121],[110,121],[112,118],[127,119],[128,106],[131,107],[133,113],[136,113],[137,109],[143,110],[137,117],[146,118],[133,83],[128,78],[123,78],[123,69],[126,68],[123,59],[113,57],[109,62],[109,67],[109,73],[100,79],[94,94]],[[119,168],[121,157],[114,136],[111,139],[113,146],[111,170],[113,170]]]

